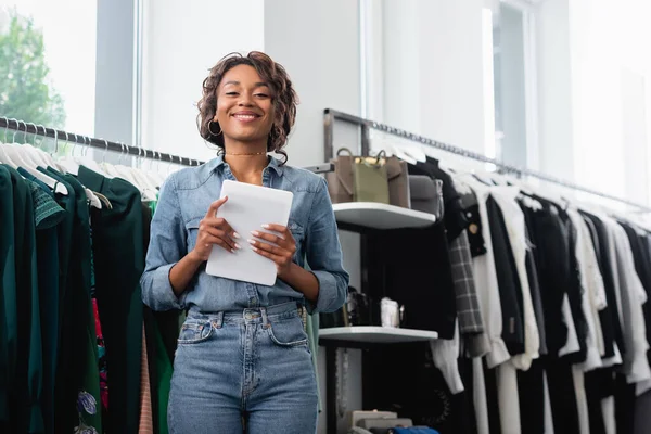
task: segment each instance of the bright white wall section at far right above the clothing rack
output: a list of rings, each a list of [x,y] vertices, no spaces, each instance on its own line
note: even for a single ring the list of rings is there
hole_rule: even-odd
[[[616,5],[609,0],[566,1],[576,180],[648,202],[651,119],[643,81],[651,78],[651,5],[636,0]]]

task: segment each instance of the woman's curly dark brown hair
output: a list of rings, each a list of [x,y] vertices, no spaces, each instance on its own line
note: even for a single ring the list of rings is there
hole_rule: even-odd
[[[282,148],[286,144],[288,136],[294,126],[294,120],[296,120],[298,97],[284,67],[259,51],[252,51],[245,56],[240,53],[228,54],[210,69],[210,74],[203,82],[203,95],[197,103],[196,124],[199,132],[204,140],[216,144],[224,151],[224,135],[215,136],[208,127],[217,111],[217,87],[224,75],[238,65],[253,66],[273,92],[276,118],[267,140],[267,151],[281,154],[284,157],[284,164],[288,161],[288,154]],[[213,126],[213,130],[216,129],[217,127]]]

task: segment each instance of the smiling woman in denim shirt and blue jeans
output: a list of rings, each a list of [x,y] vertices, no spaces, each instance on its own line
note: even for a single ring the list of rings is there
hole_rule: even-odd
[[[244,423],[251,434],[314,433],[317,387],[301,314],[303,306],[309,312],[341,307],[348,273],[326,181],[285,165],[296,93],[266,54],[231,54],[204,80],[199,110],[201,136],[220,153],[165,182],[141,279],[151,308],[188,310],[174,365],[170,432],[241,433]],[[270,151],[283,161],[267,156]],[[275,235],[235,233],[218,217],[228,197],[213,202],[227,179],[291,191],[288,227],[269,221]],[[232,252],[245,242],[276,264],[273,286],[206,275],[213,246]]]

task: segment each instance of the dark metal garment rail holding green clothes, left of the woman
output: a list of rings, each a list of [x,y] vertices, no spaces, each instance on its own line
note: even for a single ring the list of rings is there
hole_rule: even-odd
[[[152,151],[138,146],[129,146],[124,143],[112,142],[104,139],[97,139],[75,135],[66,131],[56,130],[54,128],[43,127],[42,125],[36,125],[24,120],[12,119],[7,117],[0,117],[0,129],[2,128],[8,130],[22,131],[29,135],[51,137],[52,139],[63,140],[71,143],[79,143],[81,145],[97,148],[102,151],[114,151],[120,154],[133,155],[141,158],[144,157],[149,159],[157,159],[162,162],[179,164],[182,166],[199,166],[204,163],[199,159],[166,154],[164,152]]]

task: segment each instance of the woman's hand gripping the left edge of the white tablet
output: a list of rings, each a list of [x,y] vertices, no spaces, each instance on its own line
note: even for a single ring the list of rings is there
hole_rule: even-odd
[[[217,209],[227,201],[228,196],[213,202],[206,216],[199,224],[196,244],[191,254],[201,261],[208,260],[214,244],[231,253],[234,253],[235,248],[242,248],[235,242],[240,234],[224,218],[216,217]]]

